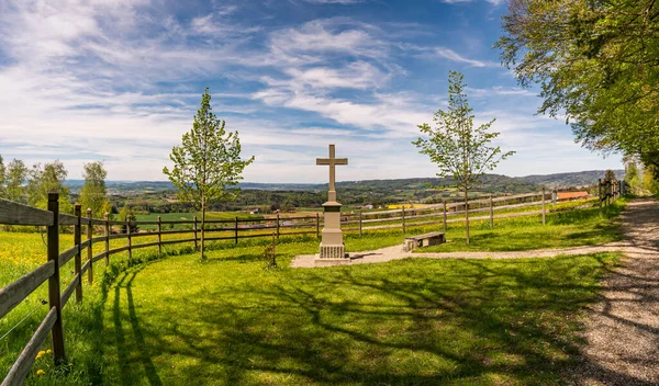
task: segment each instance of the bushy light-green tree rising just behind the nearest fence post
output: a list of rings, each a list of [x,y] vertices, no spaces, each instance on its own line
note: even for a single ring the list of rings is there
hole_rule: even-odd
[[[27,183],[27,203],[32,206],[46,208],[48,206],[48,193],[59,193],[59,212],[72,213],[74,206],[69,201],[69,189],[64,185],[68,172],[59,160],[45,163],[36,163],[30,171]]]

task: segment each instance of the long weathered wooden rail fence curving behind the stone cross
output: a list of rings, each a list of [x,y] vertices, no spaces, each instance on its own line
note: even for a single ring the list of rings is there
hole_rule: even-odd
[[[550,192],[518,194],[502,197],[488,197],[470,201],[465,205],[463,202],[446,203],[424,208],[405,208],[379,212],[362,212],[342,214],[342,225],[345,231],[359,232],[375,229],[394,229],[400,228],[403,232],[412,227],[442,225],[444,230],[447,224],[465,222],[463,217],[449,218],[456,215],[469,213],[487,213],[485,216],[472,217],[472,220],[489,220],[493,226],[496,218],[511,218],[520,216],[540,215],[545,224],[546,200]],[[65,361],[64,336],[62,329],[62,308],[69,302],[75,294],[76,302],[82,302],[82,282],[87,273],[87,281],[93,281],[93,263],[104,260],[105,265],[110,263],[110,257],[120,252],[127,252],[129,259],[132,251],[138,248],[157,247],[158,253],[163,252],[163,246],[181,242],[192,242],[198,247],[200,223],[197,218],[192,220],[161,220],[158,217],[156,222],[116,222],[110,220],[105,215],[104,219],[91,217],[91,211],[87,209],[82,216],[80,205],[76,204],[75,215],[60,214],[58,207],[58,194],[48,195],[48,209],[37,209],[22,204],[0,200],[0,224],[5,225],[27,225],[47,227],[47,262],[36,270],[25,274],[23,277],[0,290],[0,318],[23,302],[43,283],[48,281],[48,307],[49,311],[21,352],[20,356],[7,374],[2,386],[20,385],[23,383],[34,362],[35,355],[46,340],[48,332],[52,334],[53,353],[55,362]],[[511,204],[511,202],[513,202]],[[496,211],[517,209],[526,206],[539,206],[541,209],[520,213],[507,213],[495,215]],[[298,216],[280,217],[269,219],[239,219],[235,217],[231,220],[206,220],[208,229],[205,232],[224,232],[224,236],[208,237],[206,240],[233,240],[235,243],[242,238],[258,238],[291,235],[315,235],[320,237],[322,216]],[[139,225],[156,225],[156,231],[134,231]],[[188,229],[164,230],[163,225],[185,225]],[[228,225],[228,226],[227,226]],[[59,252],[59,231],[63,226],[74,227],[74,247]],[[123,232],[114,234],[113,226],[123,226]],[[102,229],[101,236],[93,236],[93,228]],[[85,228],[86,240],[82,241],[82,230]],[[302,229],[302,230],[299,230]],[[190,238],[164,240],[166,235],[191,234]],[[241,235],[242,234],[242,235]],[[133,243],[134,238],[144,236],[156,236],[157,241]],[[110,240],[125,239],[123,247],[110,249]],[[102,243],[103,251],[98,254],[92,253],[92,246]],[[85,263],[82,263],[82,252],[87,250]],[[68,285],[62,291],[59,280],[59,268],[75,259],[75,275]]]

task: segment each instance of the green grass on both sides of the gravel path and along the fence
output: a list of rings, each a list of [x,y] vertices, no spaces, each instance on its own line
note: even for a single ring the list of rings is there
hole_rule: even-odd
[[[615,217],[621,207],[613,206],[604,219],[593,209],[552,214],[546,227],[537,226],[537,218],[502,220],[493,231],[502,236],[489,238],[479,236],[492,232],[488,225],[474,224],[469,249],[613,240],[619,237]],[[462,248],[462,231],[451,225],[453,242],[440,247]],[[530,237],[538,231],[546,234]],[[375,231],[346,237],[346,249],[401,241],[400,230]],[[55,370],[44,354],[29,383],[555,384],[577,347],[579,310],[596,297],[599,277],[617,260],[616,254],[413,259],[291,270],[290,259],[315,252],[317,241],[286,238],[277,247],[282,268],[265,271],[265,242],[215,245],[205,263],[197,254],[182,254],[135,264],[153,258],[154,250],[145,249],[133,253],[132,263],[118,256],[107,271],[102,262],[96,264],[94,285],[83,287],[85,302],[70,300],[64,310],[70,365],[66,372]],[[63,249],[70,246],[72,236],[63,235],[62,243]],[[0,234],[0,286],[44,260],[38,234]],[[63,275],[64,285],[71,272]],[[0,340],[0,377],[45,315],[46,307],[38,306],[45,293],[42,286],[0,319],[2,336],[37,309]],[[36,375],[38,370],[45,374]]]

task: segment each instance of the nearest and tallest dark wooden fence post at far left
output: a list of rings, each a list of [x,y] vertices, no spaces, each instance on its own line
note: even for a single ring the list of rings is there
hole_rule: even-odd
[[[53,261],[55,272],[48,279],[48,306],[55,307],[57,319],[53,325],[53,355],[55,363],[65,361],[64,332],[62,330],[62,303],[59,294],[59,193],[48,193],[48,211],[53,213],[53,225],[48,226],[48,261]]]

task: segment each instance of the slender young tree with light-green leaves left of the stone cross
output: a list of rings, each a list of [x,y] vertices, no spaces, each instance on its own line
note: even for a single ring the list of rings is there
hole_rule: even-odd
[[[241,159],[238,132],[225,132],[224,121],[211,112],[211,94],[206,88],[201,96],[201,107],[194,116],[192,129],[183,134],[182,145],[171,149],[169,159],[174,169],[163,169],[178,189],[181,201],[201,209],[201,259],[204,248],[205,211],[214,201],[234,200],[237,183],[254,157]]]

